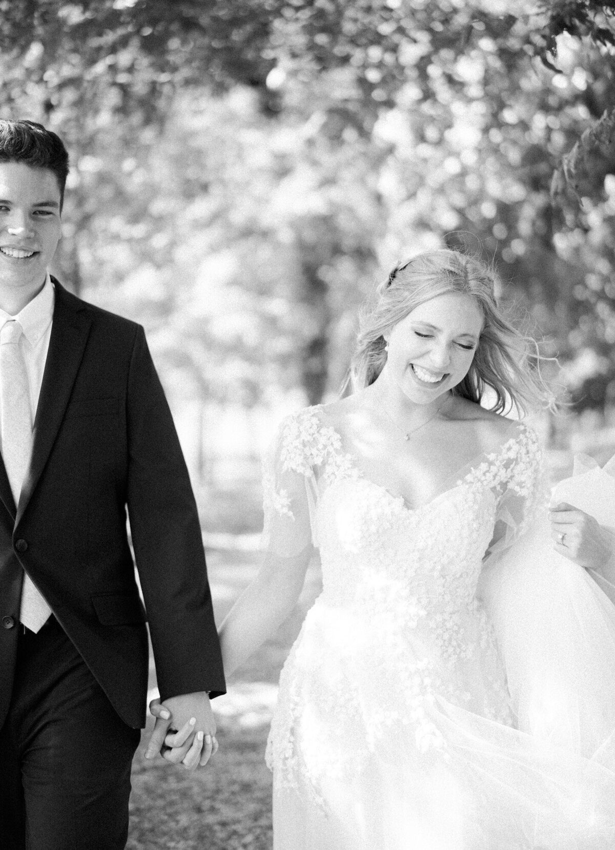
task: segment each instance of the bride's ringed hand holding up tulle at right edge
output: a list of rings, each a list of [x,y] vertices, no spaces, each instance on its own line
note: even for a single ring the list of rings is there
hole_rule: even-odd
[[[550,507],[549,519],[555,549],[575,564],[601,570],[612,558],[612,536],[589,513],[561,501]]]

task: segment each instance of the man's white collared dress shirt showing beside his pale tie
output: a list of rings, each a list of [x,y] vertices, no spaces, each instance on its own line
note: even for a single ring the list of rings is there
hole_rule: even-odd
[[[47,275],[41,292],[33,297],[16,316],[11,316],[0,309],[0,328],[3,327],[5,322],[15,319],[24,330],[19,344],[26,361],[32,422],[37,415],[38,396],[41,394],[43,371],[45,370],[51,325],[54,318],[54,302],[54,285]],[[0,380],[2,380],[1,374]],[[0,434],[1,438],[2,434]]]

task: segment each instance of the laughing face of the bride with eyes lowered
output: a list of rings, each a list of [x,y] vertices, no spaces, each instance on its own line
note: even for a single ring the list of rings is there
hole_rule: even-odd
[[[468,373],[482,324],[481,309],[469,295],[450,292],[425,301],[385,334],[383,376],[411,401],[429,404]]]

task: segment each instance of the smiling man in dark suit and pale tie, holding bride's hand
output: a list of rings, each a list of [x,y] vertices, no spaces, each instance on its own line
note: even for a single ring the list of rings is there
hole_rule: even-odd
[[[68,156],[0,121],[0,847],[119,850],[145,610],[177,728],[223,693],[196,504],[143,329],[48,275]],[[199,740],[200,740],[199,735]]]

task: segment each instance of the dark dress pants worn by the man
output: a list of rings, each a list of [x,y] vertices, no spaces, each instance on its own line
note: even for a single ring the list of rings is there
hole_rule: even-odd
[[[0,729],[2,850],[122,850],[139,740],[53,617],[20,634]]]

